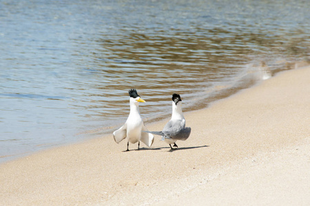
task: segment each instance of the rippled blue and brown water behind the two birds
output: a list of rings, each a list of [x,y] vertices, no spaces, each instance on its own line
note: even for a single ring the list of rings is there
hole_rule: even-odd
[[[191,111],[292,69],[309,60],[309,7],[0,0],[0,161],[110,133],[131,88],[150,122],[169,115],[172,93]]]

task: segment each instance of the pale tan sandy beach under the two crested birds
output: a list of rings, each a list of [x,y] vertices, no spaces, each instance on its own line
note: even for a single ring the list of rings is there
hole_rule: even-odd
[[[3,163],[0,205],[310,205],[309,77],[278,73],[185,113],[178,150],[156,137],[124,152],[111,134]]]

